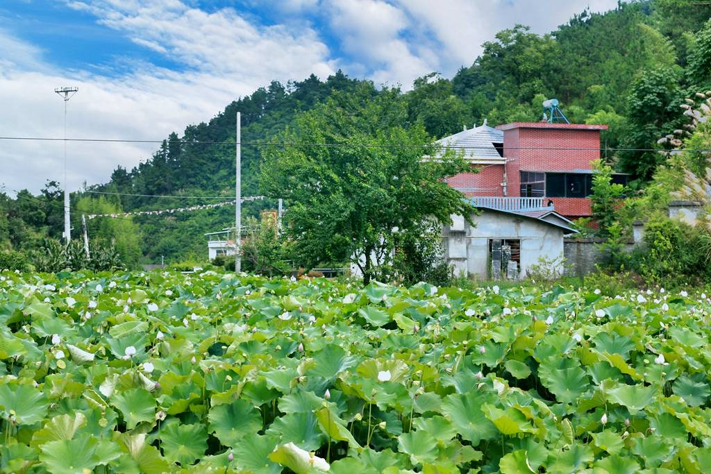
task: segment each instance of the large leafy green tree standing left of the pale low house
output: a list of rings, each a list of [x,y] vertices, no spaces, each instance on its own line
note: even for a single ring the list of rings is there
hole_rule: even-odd
[[[390,260],[393,235],[417,232],[427,218],[471,214],[444,182],[466,168],[464,159],[448,152],[423,160],[437,150],[421,125],[402,127],[406,117],[397,89],[336,95],[281,137],[314,146],[264,151],[262,188],[287,200],[285,232],[299,263],[351,261],[367,283]]]

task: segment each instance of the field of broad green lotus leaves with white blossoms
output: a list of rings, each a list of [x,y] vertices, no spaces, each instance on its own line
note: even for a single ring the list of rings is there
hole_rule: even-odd
[[[710,473],[711,302],[0,274],[4,473]]]

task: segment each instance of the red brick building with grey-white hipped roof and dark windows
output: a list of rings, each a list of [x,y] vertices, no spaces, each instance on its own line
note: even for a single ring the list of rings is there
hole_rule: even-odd
[[[481,198],[537,198],[500,200],[506,204],[497,201],[496,207],[523,210],[543,203],[569,219],[587,217],[592,214],[590,163],[600,157],[600,131],[605,129],[606,125],[547,122],[515,122],[493,129],[485,122],[440,140],[445,146],[461,147],[478,171],[453,176],[448,183],[486,203],[491,199]]]

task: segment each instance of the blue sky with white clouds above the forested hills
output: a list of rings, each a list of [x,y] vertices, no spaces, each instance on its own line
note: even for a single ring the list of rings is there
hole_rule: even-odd
[[[271,80],[338,69],[377,85],[451,77],[497,31],[547,33],[617,0],[2,0],[0,136],[161,140]],[[152,144],[68,143],[68,188],[105,183]],[[63,182],[63,142],[0,140],[0,190]]]

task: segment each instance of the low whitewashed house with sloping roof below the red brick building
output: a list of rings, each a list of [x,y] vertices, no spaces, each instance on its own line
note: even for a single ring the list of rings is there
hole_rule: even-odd
[[[473,198],[474,226],[452,216],[443,228],[444,256],[456,274],[523,279],[540,259],[563,273],[563,237],[577,230],[543,198]]]

